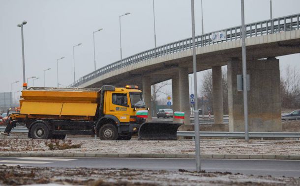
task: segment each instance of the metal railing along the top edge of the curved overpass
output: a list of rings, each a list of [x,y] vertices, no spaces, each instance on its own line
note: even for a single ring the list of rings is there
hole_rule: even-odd
[[[289,15],[285,17],[275,18],[272,20],[265,20],[261,22],[255,22],[245,25],[246,30],[246,38],[256,37],[262,35],[268,35],[271,33],[277,33],[281,31],[290,31],[299,29],[300,14]],[[212,36],[216,32],[224,32],[226,34],[225,40],[216,41],[212,40]],[[216,43],[222,43],[227,41],[235,41],[241,39],[241,26],[239,27],[231,27],[223,30],[213,31],[210,33],[206,33],[204,35],[198,35],[195,37],[196,39],[196,47],[204,47],[213,45]],[[122,61],[117,61],[106,65],[90,74],[81,77],[79,80],[70,84],[68,87],[77,87],[89,80],[102,76],[106,73],[112,72],[117,69],[121,69],[125,66],[129,66],[132,64],[140,63],[149,59],[153,59],[156,57],[168,55],[171,53],[179,53],[182,51],[190,50],[192,48],[192,38],[182,39],[173,43],[169,43],[166,45],[159,46],[154,49],[150,49],[141,53],[137,53],[122,59]]]

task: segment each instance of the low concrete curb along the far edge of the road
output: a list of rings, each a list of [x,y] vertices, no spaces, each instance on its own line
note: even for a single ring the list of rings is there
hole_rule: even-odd
[[[0,157],[57,157],[57,158],[176,158],[195,159],[194,154],[124,154],[124,153],[0,153]],[[300,155],[243,155],[202,154],[202,159],[288,159],[300,160]]]

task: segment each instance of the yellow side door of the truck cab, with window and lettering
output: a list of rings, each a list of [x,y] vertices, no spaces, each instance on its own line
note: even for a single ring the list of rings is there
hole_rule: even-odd
[[[115,115],[120,122],[129,122],[128,95],[124,92],[114,92],[111,94],[111,104],[109,114]]]

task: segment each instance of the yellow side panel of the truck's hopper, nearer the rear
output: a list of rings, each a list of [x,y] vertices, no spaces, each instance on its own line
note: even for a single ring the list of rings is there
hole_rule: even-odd
[[[21,114],[60,115],[62,103],[23,102]]]

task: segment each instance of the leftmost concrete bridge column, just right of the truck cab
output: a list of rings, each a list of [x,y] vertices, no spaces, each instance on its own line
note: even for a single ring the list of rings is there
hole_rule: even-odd
[[[144,76],[142,79],[143,84],[143,97],[146,104],[146,107],[149,107],[148,110],[148,121],[152,121],[152,106],[151,106],[151,80],[150,76]]]

